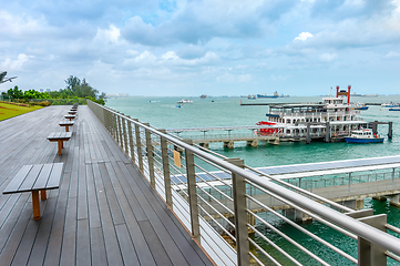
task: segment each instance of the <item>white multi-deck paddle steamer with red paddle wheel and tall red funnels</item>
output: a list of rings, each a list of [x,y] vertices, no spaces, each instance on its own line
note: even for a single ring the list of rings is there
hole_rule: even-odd
[[[360,111],[350,104],[350,86],[347,91],[339,91],[337,86],[336,96],[324,98],[320,103],[269,104],[268,121],[258,123],[266,124],[266,129],[258,130],[257,134],[275,134],[280,141],[298,141],[308,135],[322,140],[328,132],[330,141],[342,140],[351,131],[368,126],[359,114]]]

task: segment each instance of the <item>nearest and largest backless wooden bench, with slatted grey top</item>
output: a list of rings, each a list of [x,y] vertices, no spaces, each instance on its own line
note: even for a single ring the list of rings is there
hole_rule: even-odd
[[[3,191],[3,194],[32,192],[33,219],[40,219],[39,191],[42,201],[47,190],[60,187],[63,163],[23,165]]]

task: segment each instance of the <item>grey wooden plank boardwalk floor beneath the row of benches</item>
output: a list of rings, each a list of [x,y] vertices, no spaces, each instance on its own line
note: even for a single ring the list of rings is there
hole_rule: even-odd
[[[47,136],[70,108],[0,122],[0,192],[24,164],[64,163],[41,219],[31,193],[0,195],[0,266],[213,265],[88,106],[58,155]]]

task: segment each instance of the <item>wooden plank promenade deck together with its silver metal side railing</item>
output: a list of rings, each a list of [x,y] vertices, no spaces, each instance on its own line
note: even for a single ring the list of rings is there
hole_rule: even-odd
[[[32,218],[30,193],[0,196],[0,265],[329,265],[338,258],[356,265],[400,263],[400,239],[389,234],[400,229],[388,224],[384,214],[338,204],[270,172],[248,168],[240,158],[198,149],[191,140],[183,142],[90,101],[79,108],[72,137],[59,155],[45,137],[49,131],[63,131],[59,120],[66,111],[68,106],[50,106],[0,122],[0,144],[7,151],[0,154],[0,188],[25,164],[64,165],[60,187],[40,202],[38,221]],[[281,171],[324,171],[293,167]],[[266,195],[269,202],[259,201]],[[207,205],[211,200],[218,208]],[[326,241],[308,232],[274,209],[271,201],[321,222],[319,226],[338,232],[340,238]],[[308,241],[296,243],[268,217],[253,212],[255,206],[267,209],[278,225],[287,223],[306,233],[322,252],[315,254]],[[260,232],[265,228],[295,245],[280,247]],[[352,246],[342,249],[329,242]]]

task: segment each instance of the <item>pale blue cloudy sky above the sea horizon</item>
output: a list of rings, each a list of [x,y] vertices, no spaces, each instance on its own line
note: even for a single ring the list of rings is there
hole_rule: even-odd
[[[2,2],[2,3],[1,3]],[[0,1],[0,91],[400,93],[400,0]]]

